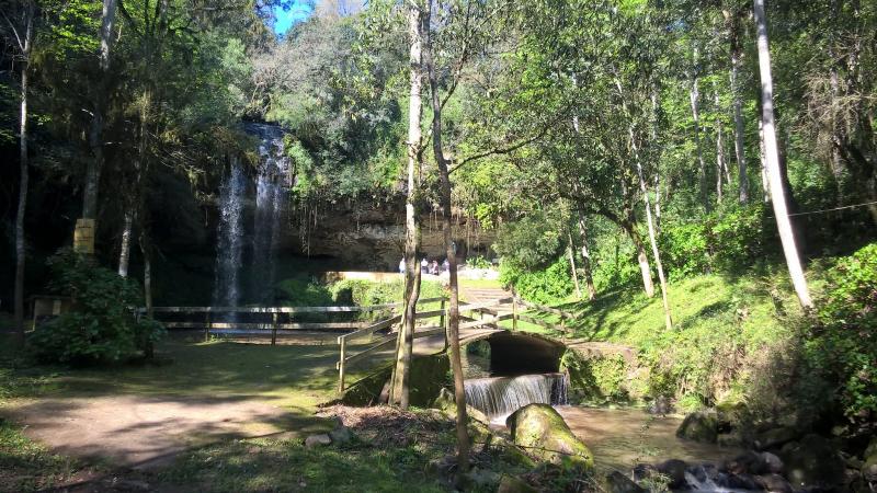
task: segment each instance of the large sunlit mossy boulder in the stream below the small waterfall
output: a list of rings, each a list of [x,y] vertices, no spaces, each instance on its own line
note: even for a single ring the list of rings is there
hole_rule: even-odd
[[[548,462],[581,470],[592,470],[594,456],[548,404],[529,404],[509,420],[514,444]]]

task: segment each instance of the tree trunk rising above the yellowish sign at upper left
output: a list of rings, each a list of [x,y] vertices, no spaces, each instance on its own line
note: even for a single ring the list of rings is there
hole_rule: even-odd
[[[96,219],[98,217],[98,191],[101,183],[101,170],[104,163],[103,152],[103,127],[104,112],[106,111],[107,82],[110,71],[110,50],[113,44],[113,23],[116,16],[116,0],[103,0],[103,11],[101,13],[101,51],[99,66],[101,70],[100,82],[94,95],[94,114],[91,118],[89,129],[89,147],[91,148],[92,159],[86,168],[86,186],[82,196],[82,217],[86,219]],[[96,232],[96,221],[95,221]]]

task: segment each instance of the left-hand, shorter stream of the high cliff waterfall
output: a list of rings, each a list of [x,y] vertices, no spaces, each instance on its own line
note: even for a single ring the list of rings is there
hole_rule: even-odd
[[[238,267],[243,253],[243,199],[247,190],[237,159],[219,188],[219,231],[216,244],[216,277],[213,306],[237,307],[240,299]]]

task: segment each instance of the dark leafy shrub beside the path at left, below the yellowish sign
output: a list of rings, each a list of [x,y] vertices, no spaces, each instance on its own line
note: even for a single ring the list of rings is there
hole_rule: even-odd
[[[90,256],[64,250],[49,260],[53,287],[70,296],[71,311],[37,328],[29,344],[44,362],[106,364],[150,356],[163,328],[137,320],[140,290],[133,282],[98,265]]]

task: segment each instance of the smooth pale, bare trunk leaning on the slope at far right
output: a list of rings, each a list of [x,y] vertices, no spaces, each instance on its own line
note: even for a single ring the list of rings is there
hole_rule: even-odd
[[[755,23],[758,26],[759,70],[761,73],[762,91],[762,121],[764,122],[764,148],[767,160],[767,176],[771,184],[771,202],[776,216],[776,226],[779,239],[783,242],[783,253],[786,257],[791,284],[798,300],[805,309],[813,306],[807,278],[804,275],[798,248],[795,244],[795,233],[788,218],[785,191],[783,190],[782,172],[779,170],[779,149],[776,139],[774,122],[773,73],[771,70],[771,50],[767,39],[767,19],[764,12],[764,0],[753,0]]]

